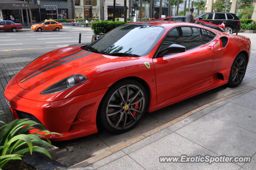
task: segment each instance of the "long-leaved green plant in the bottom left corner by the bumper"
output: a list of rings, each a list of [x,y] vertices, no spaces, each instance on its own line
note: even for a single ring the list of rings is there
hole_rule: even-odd
[[[0,121],[0,125],[2,124],[4,122]],[[33,145],[52,146],[50,140],[45,138],[45,135],[58,133],[49,132],[42,126],[43,130],[39,130],[38,132],[45,132],[45,134],[40,135],[36,132],[29,134],[29,131],[34,129],[32,127],[34,125],[42,126],[28,119],[13,120],[8,124],[0,126],[0,170],[10,160],[21,160],[22,156],[26,153],[41,152],[51,158],[50,153],[45,148]],[[45,138],[47,141],[41,138]]]

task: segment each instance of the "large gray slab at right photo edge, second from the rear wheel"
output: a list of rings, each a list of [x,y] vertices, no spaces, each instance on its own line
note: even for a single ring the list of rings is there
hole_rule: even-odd
[[[256,133],[256,110],[235,103],[228,103],[208,114]]]

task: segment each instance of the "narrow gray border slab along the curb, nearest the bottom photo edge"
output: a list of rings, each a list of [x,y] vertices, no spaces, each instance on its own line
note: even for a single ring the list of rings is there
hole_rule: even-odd
[[[94,169],[97,169],[97,168],[99,168],[101,166],[104,166],[104,165],[106,165],[106,164],[108,164],[108,163],[110,163],[110,162],[112,162],[114,160],[117,160],[118,158],[121,158],[121,157],[123,157],[125,155],[126,154],[122,150],[120,150],[119,152],[116,152],[116,153],[114,153],[114,154],[112,154],[112,155],[110,155],[110,156],[108,156],[106,158],[103,158],[102,160],[99,160],[97,162],[94,162],[93,164],[90,164],[90,165],[88,165],[88,166],[86,166],[84,168],[81,168],[80,170],[94,170]],[[72,168],[70,168],[70,170],[71,169]]]

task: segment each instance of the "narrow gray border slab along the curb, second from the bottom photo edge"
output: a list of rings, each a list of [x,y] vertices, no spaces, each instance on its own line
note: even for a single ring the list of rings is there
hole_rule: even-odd
[[[131,146],[128,146],[127,148],[124,148],[123,151],[126,153],[126,154],[130,154],[131,152],[135,151],[135,150],[138,150],[139,148],[142,148],[168,134],[172,133],[171,130],[168,130],[168,129],[164,129],[164,130],[161,130],[160,132],[157,132],[139,142],[136,142],[135,144],[131,145]]]

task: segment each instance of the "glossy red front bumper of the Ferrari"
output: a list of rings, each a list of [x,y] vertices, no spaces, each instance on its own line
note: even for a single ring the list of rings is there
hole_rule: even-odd
[[[38,119],[50,132],[58,132],[63,136],[51,134],[46,136],[52,141],[70,140],[98,132],[96,114],[100,101],[108,88],[82,94],[72,98],[52,102],[39,102],[22,98],[6,87],[4,92],[10,102],[14,119],[20,118],[20,112]],[[33,120],[33,119],[32,119]]]

